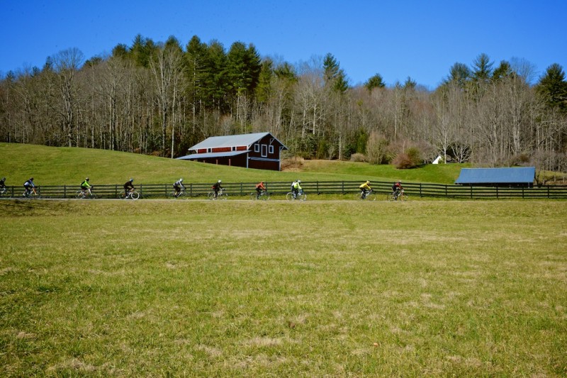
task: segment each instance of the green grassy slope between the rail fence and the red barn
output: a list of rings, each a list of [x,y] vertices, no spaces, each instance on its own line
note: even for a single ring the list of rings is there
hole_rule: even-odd
[[[359,162],[309,161],[293,172],[226,167],[165,157],[88,148],[53,148],[42,145],[0,143],[0,176],[7,185],[20,186],[29,177],[38,185],[77,184],[90,177],[96,184],[122,184],[130,177],[137,183],[257,182],[264,181],[391,181],[452,184],[461,165],[427,165],[417,169],[395,169],[391,165]]]

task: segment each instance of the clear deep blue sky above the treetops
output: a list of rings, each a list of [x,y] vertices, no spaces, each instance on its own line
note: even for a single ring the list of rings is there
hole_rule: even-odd
[[[108,54],[138,33],[184,47],[193,35],[226,50],[252,43],[291,64],[330,52],[353,85],[378,73],[388,86],[411,77],[434,89],[483,52],[495,65],[525,60],[538,76],[567,69],[566,0],[0,0],[0,15],[1,76],[67,48]]]

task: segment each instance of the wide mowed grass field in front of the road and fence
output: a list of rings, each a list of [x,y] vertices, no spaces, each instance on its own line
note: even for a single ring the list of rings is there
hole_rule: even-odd
[[[567,375],[565,201],[0,201],[0,376]]]

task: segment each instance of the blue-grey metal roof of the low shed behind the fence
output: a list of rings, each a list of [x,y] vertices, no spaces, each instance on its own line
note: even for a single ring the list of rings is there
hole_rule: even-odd
[[[535,167],[462,168],[455,184],[531,184]]]

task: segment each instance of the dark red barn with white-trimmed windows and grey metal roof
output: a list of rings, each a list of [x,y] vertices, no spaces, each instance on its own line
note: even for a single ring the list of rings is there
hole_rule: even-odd
[[[280,153],[287,149],[271,133],[213,136],[189,148],[191,155],[178,159],[279,171]]]

